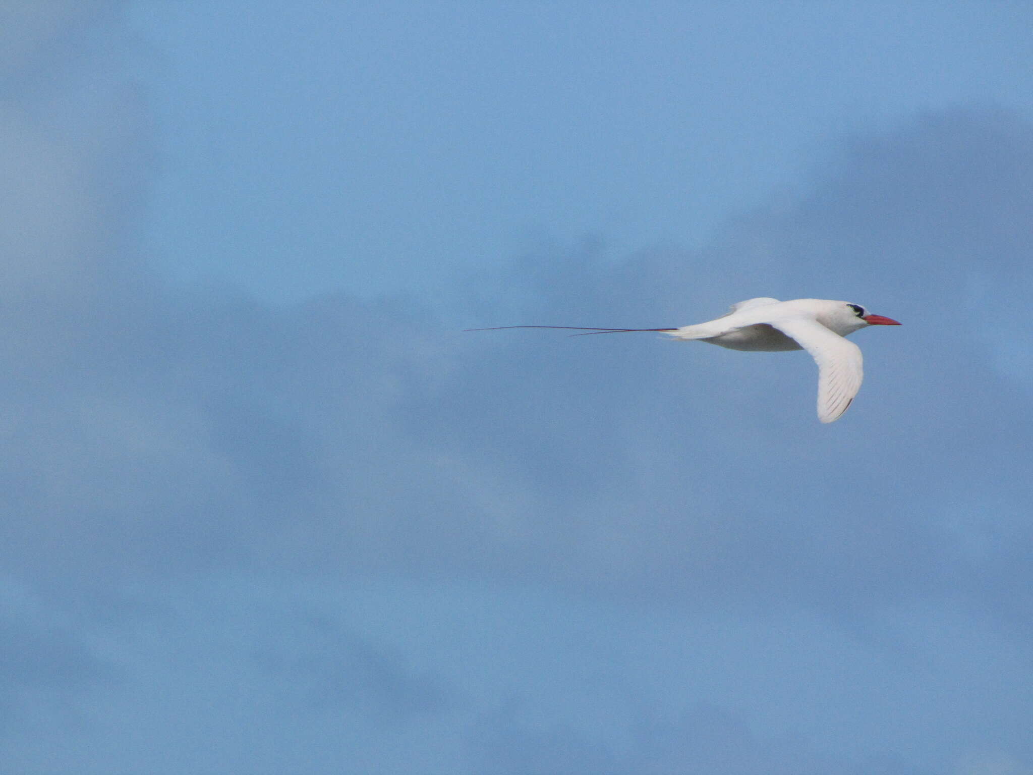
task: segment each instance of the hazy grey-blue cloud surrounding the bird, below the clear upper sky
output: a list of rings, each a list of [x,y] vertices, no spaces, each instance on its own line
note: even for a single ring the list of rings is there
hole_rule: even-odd
[[[1026,119],[858,135],[702,251],[543,243],[465,311],[276,308],[164,284],[134,250],[146,112],[113,74],[124,32],[95,24],[113,6],[89,7],[13,19],[9,78],[55,82],[0,106],[0,559],[34,600],[0,615],[11,766],[1033,760],[1009,678],[1033,645]],[[804,353],[458,331],[677,326],[759,295],[904,321],[856,337],[868,381],[835,427]],[[368,589],[383,579],[411,586]],[[698,683],[674,685],[682,670]]]

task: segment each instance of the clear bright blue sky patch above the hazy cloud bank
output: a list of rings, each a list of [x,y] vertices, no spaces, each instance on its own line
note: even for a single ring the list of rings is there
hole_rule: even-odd
[[[1033,92],[1022,4],[296,7],[130,4],[174,277],[451,298],[541,239],[698,248],[845,135]]]

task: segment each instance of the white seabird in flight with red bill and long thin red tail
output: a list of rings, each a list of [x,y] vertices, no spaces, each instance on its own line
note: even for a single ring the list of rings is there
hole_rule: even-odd
[[[683,341],[710,342],[733,350],[799,350],[818,365],[818,420],[833,423],[850,406],[864,378],[860,348],[844,337],[869,326],[900,326],[869,314],[859,304],[827,299],[780,302],[766,297],[731,305],[727,314],[680,329],[589,329],[581,326],[499,326],[493,329],[570,329],[591,334],[658,331]],[[574,334],[572,336],[585,336]]]

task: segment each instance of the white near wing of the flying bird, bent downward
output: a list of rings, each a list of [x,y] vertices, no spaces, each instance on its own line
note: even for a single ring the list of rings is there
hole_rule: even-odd
[[[818,420],[833,423],[850,406],[860,390],[864,365],[860,347],[805,317],[772,320],[771,326],[791,337],[818,365]]]

